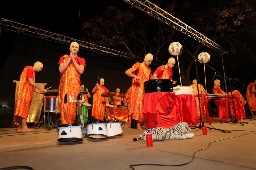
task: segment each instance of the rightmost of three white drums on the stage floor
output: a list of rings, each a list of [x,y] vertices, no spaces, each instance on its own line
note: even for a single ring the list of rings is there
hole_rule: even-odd
[[[107,123],[108,137],[114,137],[123,134],[121,121],[110,121]]]

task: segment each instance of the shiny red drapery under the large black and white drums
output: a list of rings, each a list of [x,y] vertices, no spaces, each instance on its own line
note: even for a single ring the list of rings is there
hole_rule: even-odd
[[[143,114],[148,128],[170,128],[177,122],[197,124],[195,96],[174,92],[154,92],[143,95]]]

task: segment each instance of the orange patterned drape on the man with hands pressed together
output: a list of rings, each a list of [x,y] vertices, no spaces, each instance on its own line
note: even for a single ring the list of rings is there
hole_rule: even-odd
[[[68,61],[68,55],[63,56],[63,63]],[[67,69],[60,75],[59,85],[59,108],[61,114],[61,124],[75,123],[76,117],[76,102],[64,103],[65,94],[70,94],[72,99],[77,99],[81,90],[80,74],[76,71],[73,62],[70,62]]]

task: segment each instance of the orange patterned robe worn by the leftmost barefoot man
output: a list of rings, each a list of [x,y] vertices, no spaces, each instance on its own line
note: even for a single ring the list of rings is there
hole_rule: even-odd
[[[16,100],[16,108],[14,112],[14,116],[16,116],[16,121],[19,120],[18,116],[27,119],[28,112],[30,108],[30,104],[33,98],[34,88],[29,84],[27,78],[27,70],[33,70],[33,81],[35,81],[35,70],[32,66],[26,66],[21,75],[20,75],[20,84],[18,87],[18,94]]]

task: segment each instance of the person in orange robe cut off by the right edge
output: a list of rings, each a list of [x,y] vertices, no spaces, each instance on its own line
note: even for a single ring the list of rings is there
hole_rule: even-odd
[[[252,117],[256,117],[253,112],[256,112],[256,97],[255,97],[255,85],[256,80],[254,80],[253,83],[250,83],[248,85],[247,91],[246,91],[246,98],[249,105],[250,112],[252,114]]]

